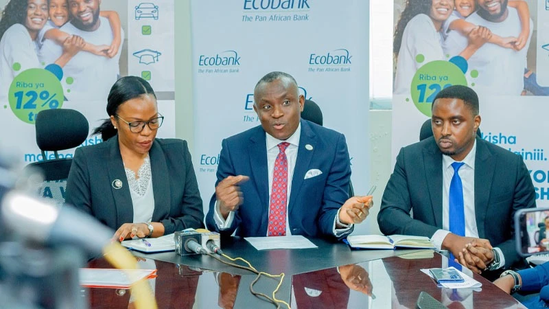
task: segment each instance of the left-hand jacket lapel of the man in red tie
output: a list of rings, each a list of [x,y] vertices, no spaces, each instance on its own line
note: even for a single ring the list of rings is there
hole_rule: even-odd
[[[266,218],[264,212],[269,208],[269,173],[267,170],[267,146],[265,139],[265,131],[259,127],[258,130],[250,137],[248,153],[250,157],[250,167],[252,169],[252,178],[259,194],[261,205],[256,205],[261,211],[261,217]],[[267,219],[261,221],[261,225],[266,224]],[[265,228],[265,231],[267,229]]]

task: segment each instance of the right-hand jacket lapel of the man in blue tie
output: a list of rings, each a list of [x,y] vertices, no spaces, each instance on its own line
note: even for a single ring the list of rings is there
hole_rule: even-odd
[[[495,160],[488,147],[482,140],[476,139],[475,155],[475,218],[478,236],[484,238],[484,222],[488,209],[488,198],[490,197],[493,173],[495,172]]]

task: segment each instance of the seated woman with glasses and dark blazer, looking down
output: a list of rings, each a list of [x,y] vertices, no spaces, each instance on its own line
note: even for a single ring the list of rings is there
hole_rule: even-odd
[[[113,239],[119,241],[203,227],[187,142],[156,138],[164,117],[150,84],[120,78],[106,110],[109,118],[93,132],[104,142],[75,151],[67,203],[117,229]]]

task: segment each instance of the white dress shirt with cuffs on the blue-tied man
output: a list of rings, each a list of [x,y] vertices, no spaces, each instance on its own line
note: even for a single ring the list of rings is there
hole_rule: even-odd
[[[463,159],[463,166],[458,170],[458,174],[463,185],[463,208],[465,211],[465,237],[478,238],[478,229],[476,227],[475,216],[475,157],[476,157],[476,140],[473,148]],[[435,247],[441,250],[442,242],[449,232],[449,190],[452,177],[454,176],[454,168],[452,163],[456,162],[452,157],[442,156],[443,170],[443,192],[442,192],[442,229],[436,231],[431,242]],[[494,248],[500,255],[500,265],[505,265],[505,259],[501,249]],[[456,257],[457,258],[457,257]]]

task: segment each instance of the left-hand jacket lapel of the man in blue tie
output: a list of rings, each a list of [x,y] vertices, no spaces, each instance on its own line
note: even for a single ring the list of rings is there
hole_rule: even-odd
[[[442,153],[434,139],[423,148],[423,165],[434,221],[436,227],[442,228]]]

